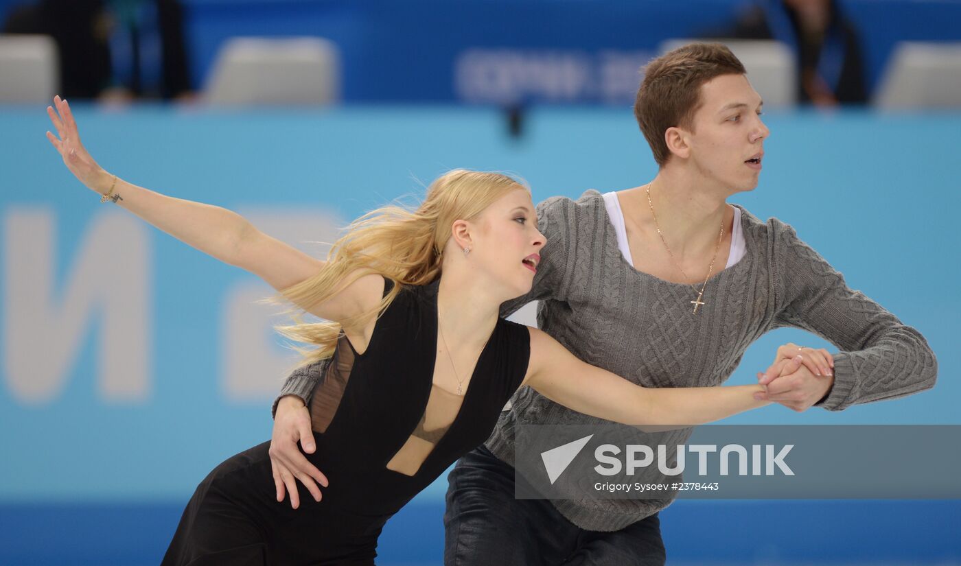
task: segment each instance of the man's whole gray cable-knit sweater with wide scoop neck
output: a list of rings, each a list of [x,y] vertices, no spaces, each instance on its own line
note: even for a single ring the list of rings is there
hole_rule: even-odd
[[[924,336],[851,290],[840,273],[776,218],[761,222],[742,209],[746,254],[711,277],[704,290],[707,304],[693,314],[691,285],[636,271],[624,259],[601,193],[588,190],[577,201],[554,197],[538,205],[537,214],[548,244],[533,287],[527,296],[505,303],[502,314],[539,300],[542,330],[577,357],[629,381],[647,387],[719,385],[761,334],[796,327],[840,350],[834,355],[834,385],[819,406],[840,410],[934,385],[937,361]],[[307,400],[323,366],[295,371],[281,395]],[[512,464],[519,424],[593,422],[600,421],[523,387],[486,445]],[[671,434],[665,444],[683,444],[690,430]],[[552,503],[582,529],[617,530],[671,500]]]

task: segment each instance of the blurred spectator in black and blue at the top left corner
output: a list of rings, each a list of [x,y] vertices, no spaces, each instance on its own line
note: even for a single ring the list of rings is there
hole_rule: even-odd
[[[13,8],[3,32],[54,37],[64,98],[190,93],[179,0],[40,0]]]

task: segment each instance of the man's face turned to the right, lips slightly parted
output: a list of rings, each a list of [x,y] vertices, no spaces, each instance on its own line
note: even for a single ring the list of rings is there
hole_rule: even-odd
[[[761,97],[744,75],[721,75],[701,86],[701,107],[687,132],[690,159],[702,176],[735,191],[752,190],[761,173]]]

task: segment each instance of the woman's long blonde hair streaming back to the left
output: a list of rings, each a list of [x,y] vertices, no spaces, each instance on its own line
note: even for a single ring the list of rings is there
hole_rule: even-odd
[[[454,222],[474,218],[518,188],[528,189],[503,173],[455,169],[431,183],[417,209],[386,206],[352,222],[346,234],[333,243],[324,269],[281,291],[280,300],[296,309],[292,313],[295,324],[275,328],[295,342],[291,346],[303,356],[299,366],[331,357],[344,323],[360,326],[369,317],[380,316],[403,285],[433,282],[440,275],[444,246]],[[304,306],[327,301],[370,274],[382,275],[394,283],[377,308],[339,322],[303,322],[300,314]],[[345,281],[348,276],[351,281]],[[312,347],[300,347],[297,343]]]

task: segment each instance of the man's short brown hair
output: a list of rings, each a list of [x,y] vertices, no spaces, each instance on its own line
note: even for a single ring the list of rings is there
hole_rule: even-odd
[[[701,106],[701,86],[721,75],[747,71],[721,43],[691,43],[678,47],[644,67],[644,81],[634,100],[634,117],[648,138],[654,160],[661,167],[671,156],[664,132],[690,128]]]

